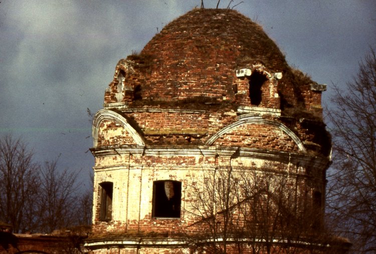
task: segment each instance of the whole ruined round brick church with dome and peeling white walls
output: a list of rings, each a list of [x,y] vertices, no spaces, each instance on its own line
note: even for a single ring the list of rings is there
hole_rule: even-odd
[[[172,21],[140,53],[117,63],[95,115],[93,232],[86,247],[253,253],[258,243],[259,253],[291,246],[325,252],[311,237],[323,227],[330,164],[325,89],[289,67],[262,28],[236,11],[195,9]],[[268,177],[278,184],[252,197],[242,191],[248,182],[266,186]],[[236,188],[228,188],[223,208],[213,200],[223,200],[215,186],[230,182]],[[285,202],[276,196],[295,202],[293,215],[275,213],[283,215],[278,221],[315,218],[299,237],[284,236],[300,228],[292,222],[289,230],[277,222],[263,229],[255,221],[269,204],[260,201],[266,196],[273,196],[273,212]],[[244,207],[257,212],[248,216]]]

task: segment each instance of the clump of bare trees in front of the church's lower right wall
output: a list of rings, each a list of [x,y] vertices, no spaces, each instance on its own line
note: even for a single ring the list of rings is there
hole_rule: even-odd
[[[191,246],[208,253],[319,252],[317,241],[329,236],[305,181],[286,165],[206,171],[188,197],[186,212],[197,222],[186,229],[202,231],[187,236]]]

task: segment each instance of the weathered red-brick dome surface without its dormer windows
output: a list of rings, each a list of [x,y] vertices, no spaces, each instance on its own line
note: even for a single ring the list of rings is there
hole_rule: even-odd
[[[287,64],[262,28],[233,10],[195,9],[172,21],[144,47],[152,72],[144,97],[182,99],[234,96],[236,69]]]

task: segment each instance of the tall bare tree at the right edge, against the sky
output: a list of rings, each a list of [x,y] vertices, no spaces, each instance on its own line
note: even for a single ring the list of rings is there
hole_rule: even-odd
[[[328,110],[334,163],[328,210],[356,253],[376,252],[376,54],[359,63],[345,90],[334,86]]]

